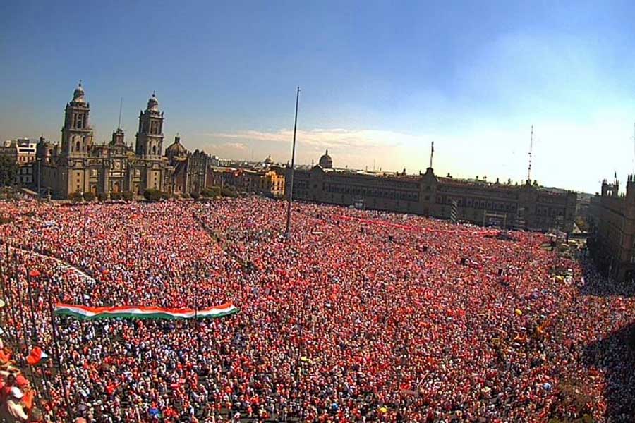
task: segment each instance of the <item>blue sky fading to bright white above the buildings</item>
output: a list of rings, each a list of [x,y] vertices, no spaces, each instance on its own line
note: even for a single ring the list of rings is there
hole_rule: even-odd
[[[518,3],[518,4],[513,4]],[[0,6],[0,140],[59,140],[79,79],[97,142],[156,90],[169,145],[222,157],[595,192],[634,169],[629,1],[18,1]]]

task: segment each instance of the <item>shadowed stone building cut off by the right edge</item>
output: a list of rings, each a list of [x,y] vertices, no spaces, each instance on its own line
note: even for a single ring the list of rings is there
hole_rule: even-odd
[[[617,178],[602,181],[593,238],[589,248],[600,269],[619,281],[635,278],[635,176],[627,180],[626,195]]]

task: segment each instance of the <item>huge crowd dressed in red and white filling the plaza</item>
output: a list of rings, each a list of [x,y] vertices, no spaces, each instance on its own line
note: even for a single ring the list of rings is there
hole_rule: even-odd
[[[294,204],[286,238],[285,212],[1,202],[0,338],[18,367],[49,355],[30,367],[44,418],[635,421],[634,366],[612,358],[632,345],[602,343],[630,330],[635,298],[545,235]],[[80,321],[57,302],[240,312]]]

